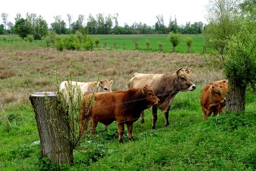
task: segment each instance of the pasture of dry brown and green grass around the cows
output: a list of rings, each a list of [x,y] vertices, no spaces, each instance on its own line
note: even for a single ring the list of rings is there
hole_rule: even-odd
[[[103,41],[104,42],[104,41]],[[153,42],[153,41],[152,41]],[[0,46],[0,170],[58,170],[40,158],[40,145],[29,95],[56,91],[68,79],[90,82],[112,79],[112,91],[128,88],[134,72],[169,73],[187,67],[197,88],[179,92],[165,128],[159,111],[156,130],[151,130],[151,109],[133,125],[135,141],[118,143],[116,123],[107,132],[99,124],[96,135],[84,141],[84,153],[74,151],[74,166],[62,170],[255,170],[256,96],[246,94],[245,113],[226,113],[204,120],[200,96],[205,84],[224,79],[219,68],[204,55],[141,51],[56,51],[53,48]]]

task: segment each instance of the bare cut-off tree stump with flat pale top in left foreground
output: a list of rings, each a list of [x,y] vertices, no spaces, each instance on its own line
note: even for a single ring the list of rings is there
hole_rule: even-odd
[[[35,112],[40,137],[41,155],[51,163],[73,164],[70,130],[65,119],[67,113],[58,108],[54,92],[36,92],[29,97]]]

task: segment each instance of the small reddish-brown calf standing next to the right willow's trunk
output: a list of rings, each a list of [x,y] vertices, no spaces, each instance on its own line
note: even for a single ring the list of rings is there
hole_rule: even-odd
[[[209,83],[202,90],[200,103],[205,120],[208,120],[212,112],[214,116],[217,116],[218,113],[223,111],[226,105],[226,98],[222,96],[222,87],[222,85]]]

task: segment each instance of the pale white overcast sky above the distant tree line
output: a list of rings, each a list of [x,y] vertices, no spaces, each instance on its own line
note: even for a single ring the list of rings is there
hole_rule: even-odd
[[[1,1],[0,14],[9,14],[8,21],[14,23],[14,17],[18,13],[21,13],[23,18],[26,18],[26,13],[36,13],[41,15],[48,25],[55,22],[54,16],[61,15],[68,25],[67,14],[72,15],[72,22],[75,22],[78,15],[82,14],[85,17],[84,23],[87,23],[89,14],[96,18],[96,14],[99,13],[104,14],[104,17],[118,13],[119,26],[124,26],[124,23],[132,26],[135,22],[153,26],[157,21],[156,15],[162,15],[166,26],[170,17],[172,21],[176,17],[178,25],[185,25],[186,22],[206,23],[205,5],[208,2],[208,0],[4,0]],[[0,22],[3,23],[2,18]]]

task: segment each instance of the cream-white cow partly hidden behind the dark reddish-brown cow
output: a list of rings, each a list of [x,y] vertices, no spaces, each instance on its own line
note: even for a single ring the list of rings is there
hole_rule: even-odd
[[[73,100],[75,101],[78,96],[78,92],[81,93],[82,97],[85,92],[112,92],[112,83],[113,81],[108,79],[88,83],[64,81],[60,84],[59,91],[63,93],[64,99],[67,101],[68,93],[71,92],[71,89],[74,89],[75,95]]]

